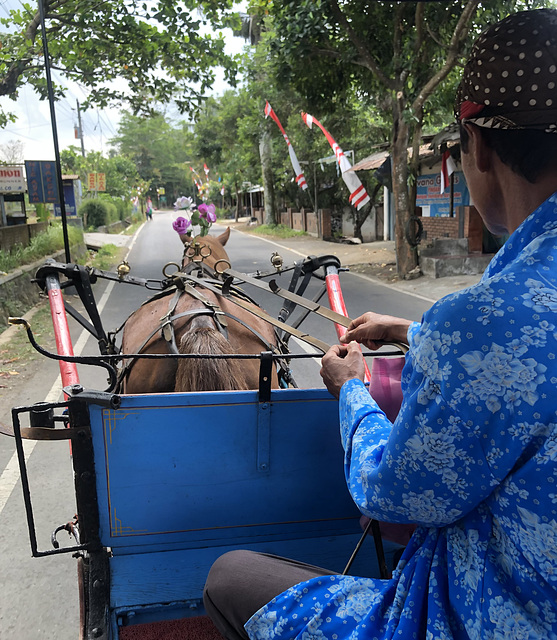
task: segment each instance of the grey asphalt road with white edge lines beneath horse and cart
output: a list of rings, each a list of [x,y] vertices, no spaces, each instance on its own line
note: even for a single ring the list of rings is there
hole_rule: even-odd
[[[213,232],[221,231],[222,227],[214,225]],[[244,272],[267,271],[271,253],[277,250],[285,264],[300,259],[298,254],[279,249],[269,241],[234,231],[227,246],[234,268]],[[132,275],[159,278],[164,265],[179,261],[181,254],[182,244],[171,229],[171,214],[157,213],[134,239],[128,258]],[[289,278],[283,276],[278,281],[281,286],[288,286]],[[342,274],[341,282],[352,317],[372,309],[419,320],[430,306],[426,300],[393,291],[357,274]],[[321,282],[312,283],[306,296],[313,296],[322,286]],[[105,281],[95,285],[95,297],[102,307],[101,316],[108,330],[118,327],[149,295],[142,287]],[[253,297],[271,315],[277,316],[281,303],[275,296],[257,291]],[[323,301],[326,303],[326,297]],[[95,340],[87,339],[75,322],[71,321],[70,325],[76,352],[96,354]],[[333,325],[316,316],[311,315],[303,328],[325,342],[336,342]],[[299,361],[293,370],[299,386],[321,386],[318,359]],[[105,388],[106,375],[102,370],[80,368],[79,373],[84,386]],[[57,376],[55,362],[37,360],[17,393],[1,399],[0,421],[11,421],[10,406],[56,401],[61,392]],[[51,531],[70,520],[75,512],[70,456],[66,443],[32,445],[28,466],[38,542],[40,549],[49,549]],[[12,439],[3,436],[0,436],[0,473],[0,640],[76,638],[79,616],[75,560],[70,555],[31,558],[14,444]]]

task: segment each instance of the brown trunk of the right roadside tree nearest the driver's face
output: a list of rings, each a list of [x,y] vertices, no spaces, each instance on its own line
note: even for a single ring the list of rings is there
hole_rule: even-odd
[[[408,125],[403,120],[402,101],[397,101],[394,109],[393,128],[393,196],[395,201],[395,248],[397,271],[404,278],[418,266],[418,254],[407,239],[407,231],[413,232],[410,224],[410,197],[408,194]]]

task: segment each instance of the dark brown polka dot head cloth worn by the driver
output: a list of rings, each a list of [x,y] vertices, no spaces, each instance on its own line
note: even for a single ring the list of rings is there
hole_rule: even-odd
[[[508,16],[478,38],[455,115],[479,127],[557,133],[557,10]]]

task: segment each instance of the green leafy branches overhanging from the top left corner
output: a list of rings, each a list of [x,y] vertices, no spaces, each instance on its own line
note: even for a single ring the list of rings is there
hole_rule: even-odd
[[[215,66],[234,82],[236,67],[224,53],[222,34],[202,35],[207,25],[238,24],[229,12],[231,0],[44,2],[51,66],[87,89],[84,108],[121,101],[145,113],[173,100],[183,112],[194,109],[212,85]],[[17,95],[25,83],[46,98],[38,10],[22,3],[0,24],[6,30],[0,36],[0,96]],[[58,86],[55,93],[64,89]],[[0,124],[8,118],[0,114]]]

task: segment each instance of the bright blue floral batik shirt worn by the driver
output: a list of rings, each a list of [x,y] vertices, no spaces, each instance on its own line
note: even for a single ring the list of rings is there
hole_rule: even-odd
[[[298,584],[252,639],[557,639],[557,194],[475,286],[410,327],[391,424],[357,380],[340,396],[350,492],[417,523],[391,580]]]

